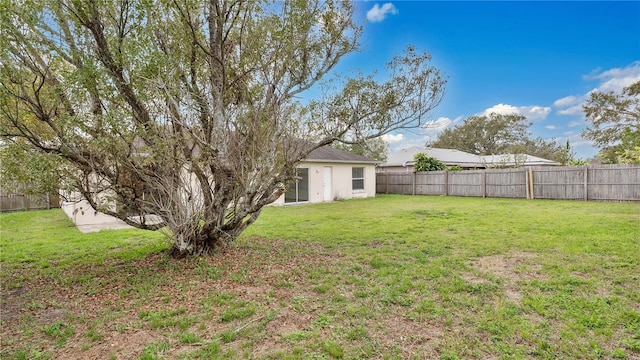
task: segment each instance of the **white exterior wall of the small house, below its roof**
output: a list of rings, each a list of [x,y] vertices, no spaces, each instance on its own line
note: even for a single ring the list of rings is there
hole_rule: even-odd
[[[353,189],[353,168],[362,168],[364,188]],[[308,169],[308,200],[285,202],[285,195],[273,205],[293,203],[320,203],[339,199],[374,197],[376,195],[376,174],[373,164],[339,162],[303,162],[298,169]],[[328,182],[330,179],[330,183]],[[292,185],[290,185],[292,186]]]

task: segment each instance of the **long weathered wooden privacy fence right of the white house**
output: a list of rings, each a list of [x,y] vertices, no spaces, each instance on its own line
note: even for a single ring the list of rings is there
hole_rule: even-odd
[[[640,201],[640,165],[377,173],[376,193]]]

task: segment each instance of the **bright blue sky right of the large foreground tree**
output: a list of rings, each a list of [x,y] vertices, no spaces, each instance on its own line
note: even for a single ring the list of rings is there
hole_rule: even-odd
[[[424,146],[471,115],[519,112],[533,136],[568,139],[580,158],[589,92],[640,80],[640,2],[357,2],[362,50],[341,70],[384,68],[409,44],[448,77],[434,126],[385,136],[391,150]]]

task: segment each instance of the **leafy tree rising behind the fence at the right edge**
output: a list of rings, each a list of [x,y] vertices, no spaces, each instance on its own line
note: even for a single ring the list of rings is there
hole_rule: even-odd
[[[640,159],[640,81],[619,93],[594,91],[582,108],[591,123],[582,136],[593,140],[603,158]]]

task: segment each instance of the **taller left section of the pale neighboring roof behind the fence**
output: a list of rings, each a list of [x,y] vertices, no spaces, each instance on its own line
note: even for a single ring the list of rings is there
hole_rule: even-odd
[[[414,156],[418,153],[424,153],[427,156],[436,158],[442,161],[445,165],[460,167],[484,167],[485,164],[478,155],[470,154],[464,151],[455,149],[440,149],[440,148],[421,148],[418,146],[410,147],[408,149],[402,149],[400,151],[392,152],[387,158],[387,162],[380,165],[386,166],[413,166]]]

